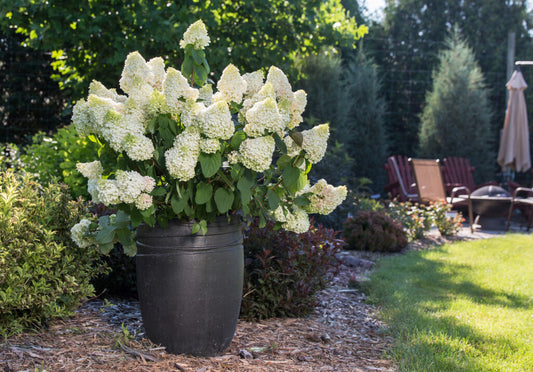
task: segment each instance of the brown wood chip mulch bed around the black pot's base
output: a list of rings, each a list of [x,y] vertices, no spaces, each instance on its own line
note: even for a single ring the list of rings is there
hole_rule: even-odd
[[[3,340],[0,371],[394,371],[376,310],[348,287],[351,278],[365,279],[373,257],[345,252],[343,259],[312,316],[239,320],[220,356],[167,353],[145,338],[138,302],[92,299],[39,333]]]

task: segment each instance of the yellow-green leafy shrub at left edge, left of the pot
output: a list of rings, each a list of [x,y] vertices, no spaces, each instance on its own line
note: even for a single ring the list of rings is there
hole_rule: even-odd
[[[0,173],[0,334],[36,328],[72,314],[105,271],[94,249],[70,229],[85,214],[66,185],[42,187],[28,174]]]

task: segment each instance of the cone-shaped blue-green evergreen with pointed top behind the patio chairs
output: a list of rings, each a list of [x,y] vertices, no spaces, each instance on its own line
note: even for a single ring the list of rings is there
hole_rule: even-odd
[[[433,88],[421,115],[419,156],[468,158],[476,167],[477,181],[486,181],[493,176],[496,159],[483,74],[457,29],[446,46],[433,71]]]

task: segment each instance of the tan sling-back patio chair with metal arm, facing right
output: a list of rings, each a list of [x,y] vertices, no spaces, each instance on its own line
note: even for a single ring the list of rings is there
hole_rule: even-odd
[[[466,206],[468,208],[470,232],[474,233],[470,190],[466,186],[454,187],[451,190],[451,196],[447,197],[438,160],[410,158],[408,161],[415,178],[419,202],[425,204],[431,202],[445,202],[450,204],[452,208]],[[465,194],[458,195],[459,192],[464,192]]]

